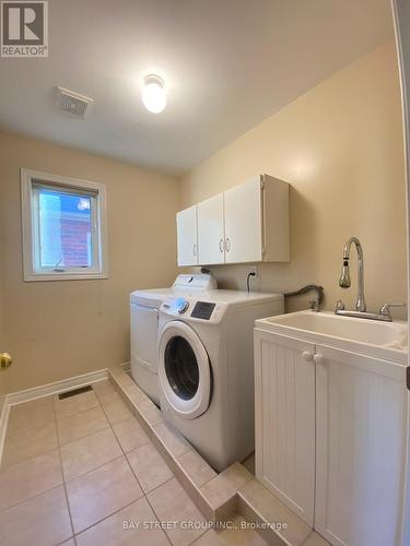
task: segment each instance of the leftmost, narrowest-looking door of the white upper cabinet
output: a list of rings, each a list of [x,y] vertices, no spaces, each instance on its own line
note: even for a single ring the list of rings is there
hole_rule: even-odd
[[[176,215],[178,265],[198,264],[197,206],[190,206]]]

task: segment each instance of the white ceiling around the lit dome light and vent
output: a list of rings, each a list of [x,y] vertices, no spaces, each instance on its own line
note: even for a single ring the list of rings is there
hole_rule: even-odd
[[[49,58],[0,60],[0,127],[178,175],[391,35],[389,0],[50,0]]]

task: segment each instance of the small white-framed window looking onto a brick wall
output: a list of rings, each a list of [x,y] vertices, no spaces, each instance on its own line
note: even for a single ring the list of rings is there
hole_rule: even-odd
[[[22,169],[25,281],[107,277],[105,187]]]

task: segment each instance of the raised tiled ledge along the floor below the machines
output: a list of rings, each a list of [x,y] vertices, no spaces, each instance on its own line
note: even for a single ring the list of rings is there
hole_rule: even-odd
[[[108,379],[207,520],[223,522],[239,513],[271,545],[328,545],[239,462],[216,474],[121,367],[109,368]]]

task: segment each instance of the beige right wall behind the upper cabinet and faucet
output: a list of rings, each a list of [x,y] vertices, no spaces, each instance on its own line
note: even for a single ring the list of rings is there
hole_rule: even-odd
[[[260,265],[255,286],[282,292],[319,283],[327,309],[337,298],[352,306],[355,275],[349,290],[338,287],[338,276],[344,241],[355,235],[364,247],[367,307],[407,300],[402,126],[393,43],[191,170],[180,183],[183,207],[257,173],[292,185],[292,258],[289,264]],[[212,271],[223,286],[245,287],[247,265]],[[306,298],[288,309],[304,306]]]

